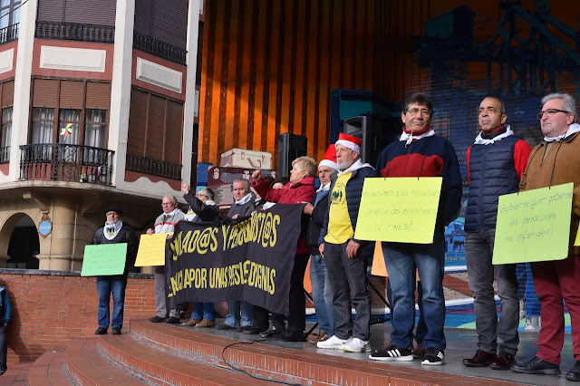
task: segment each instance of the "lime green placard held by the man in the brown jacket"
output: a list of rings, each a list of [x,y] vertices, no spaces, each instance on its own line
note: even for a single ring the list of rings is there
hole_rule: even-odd
[[[565,259],[573,189],[569,183],[500,196],[493,264]]]

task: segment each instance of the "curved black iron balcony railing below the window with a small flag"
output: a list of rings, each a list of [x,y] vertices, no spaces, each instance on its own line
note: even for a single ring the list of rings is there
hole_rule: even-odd
[[[20,147],[20,179],[111,185],[113,150],[62,143]]]

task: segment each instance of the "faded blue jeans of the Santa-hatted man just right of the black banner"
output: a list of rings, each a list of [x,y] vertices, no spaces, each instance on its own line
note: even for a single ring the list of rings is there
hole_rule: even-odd
[[[310,258],[310,281],[312,297],[316,310],[316,321],[328,336],[334,334],[333,286],[330,284],[324,257],[313,255]]]

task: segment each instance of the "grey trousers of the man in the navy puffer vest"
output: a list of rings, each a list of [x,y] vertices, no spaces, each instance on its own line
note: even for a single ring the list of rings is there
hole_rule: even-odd
[[[504,350],[516,354],[519,335],[519,298],[515,264],[492,265],[495,229],[466,232],[465,257],[468,265],[469,289],[473,292],[478,349],[484,352]],[[494,269],[498,277],[501,299],[500,316],[494,299]]]

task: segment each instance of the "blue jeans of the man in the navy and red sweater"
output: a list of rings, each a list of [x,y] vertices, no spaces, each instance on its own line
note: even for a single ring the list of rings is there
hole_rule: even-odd
[[[445,350],[445,298],[443,274],[445,239],[443,228],[436,228],[432,244],[382,243],[382,253],[392,290],[392,344],[409,347],[413,341],[415,317],[415,273],[417,266],[422,290],[422,312],[427,333],[425,349]]]

